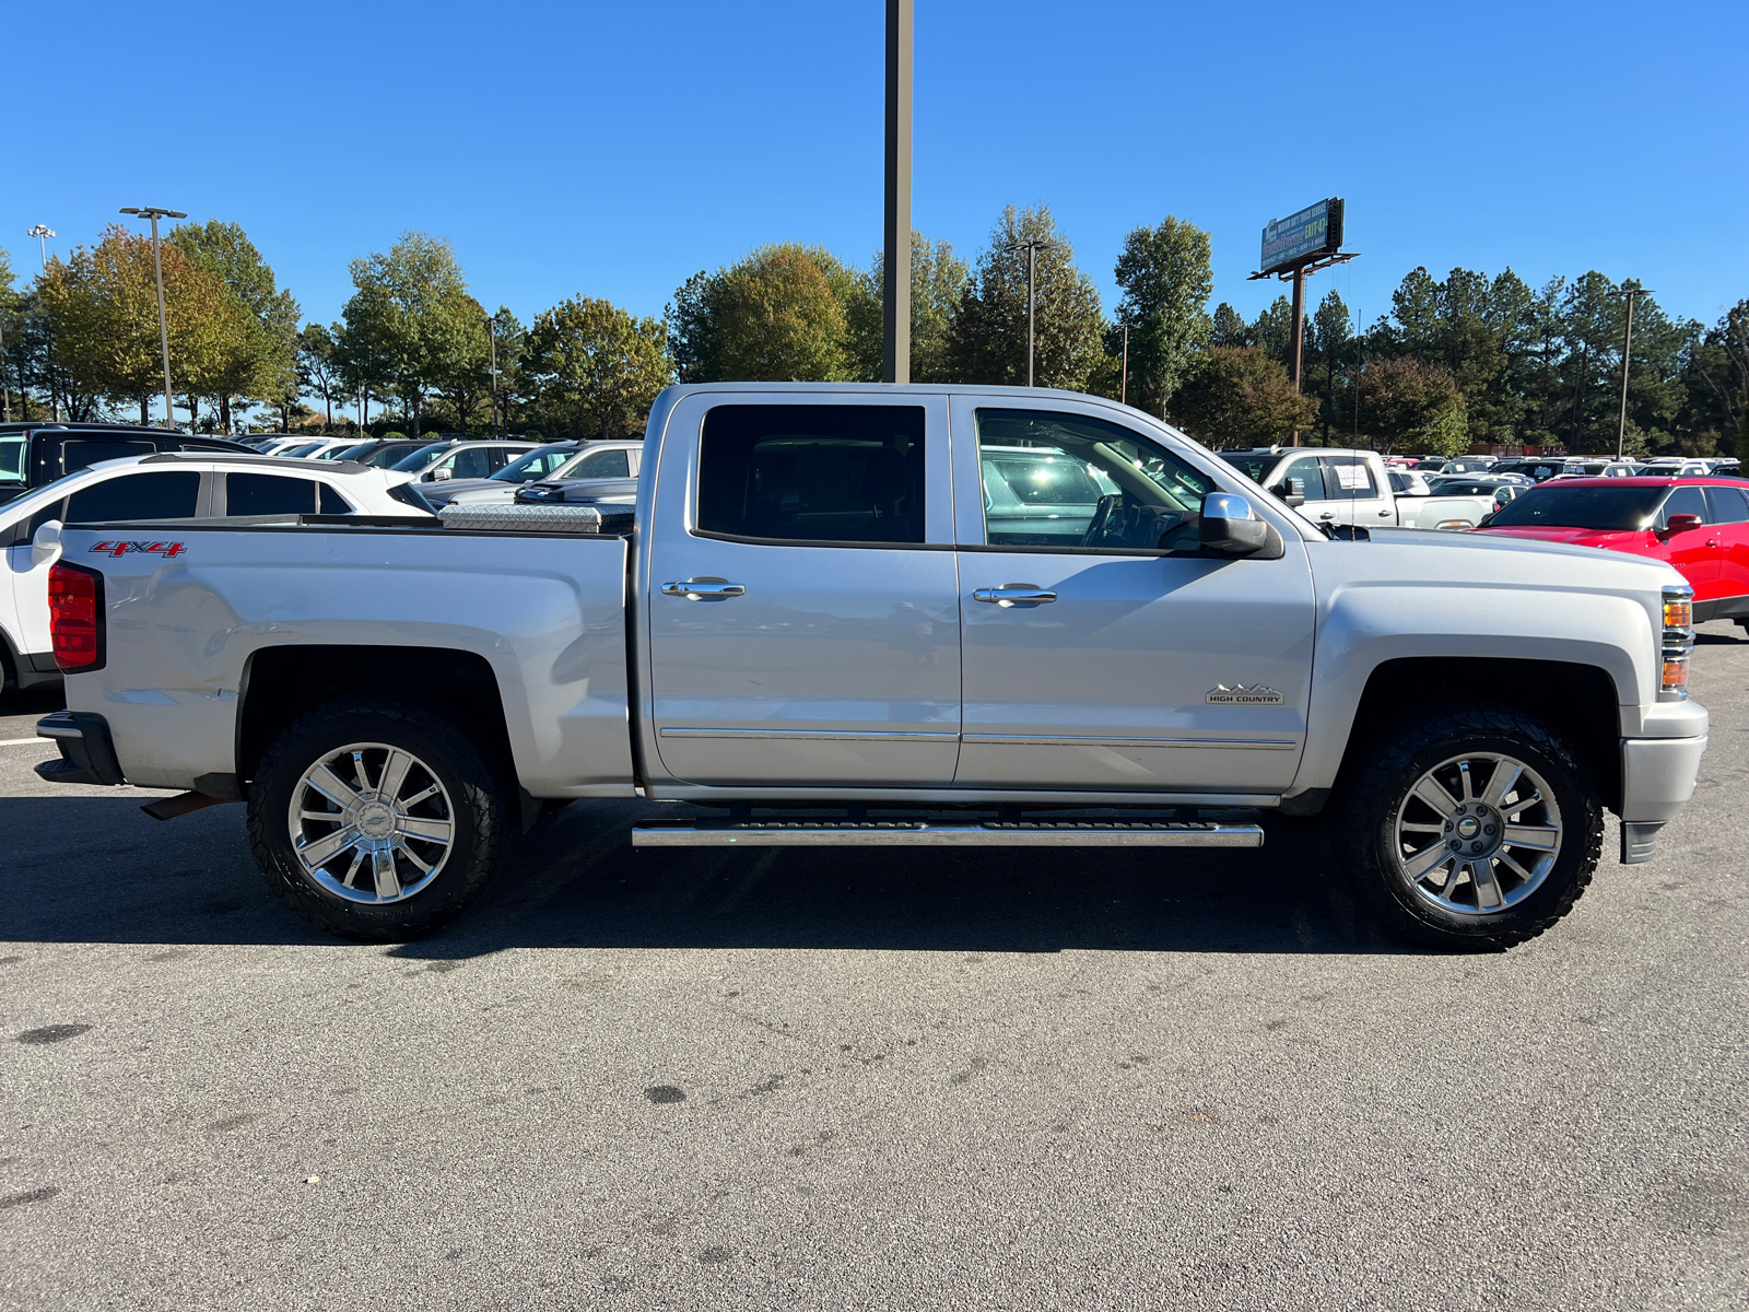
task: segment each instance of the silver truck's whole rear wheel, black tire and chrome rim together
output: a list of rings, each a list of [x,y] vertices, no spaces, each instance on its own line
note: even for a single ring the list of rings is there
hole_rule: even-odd
[[[455,726],[353,696],[268,749],[248,836],[268,887],[301,917],[343,938],[402,941],[479,894],[511,826],[491,768]]]

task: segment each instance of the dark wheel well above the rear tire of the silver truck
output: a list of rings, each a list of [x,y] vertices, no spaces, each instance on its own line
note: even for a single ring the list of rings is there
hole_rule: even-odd
[[[236,768],[248,782],[268,745],[308,710],[353,693],[420,701],[455,722],[516,794],[504,698],[484,656],[448,647],[308,646],[257,651],[243,668]]]

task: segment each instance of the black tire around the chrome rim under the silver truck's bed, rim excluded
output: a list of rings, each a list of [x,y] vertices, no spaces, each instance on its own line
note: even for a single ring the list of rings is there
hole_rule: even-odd
[[[292,848],[287,815],[304,771],[348,743],[401,747],[444,785],[455,838],[444,866],[404,901],[346,901],[313,882]],[[248,841],[268,889],[313,925],[341,938],[401,943],[456,917],[484,889],[514,841],[500,780],[477,747],[439,714],[413,703],[346,696],[294,721],[268,747],[248,789]]]

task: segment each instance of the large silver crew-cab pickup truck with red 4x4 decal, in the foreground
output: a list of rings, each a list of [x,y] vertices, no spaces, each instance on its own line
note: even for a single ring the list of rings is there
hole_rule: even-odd
[[[1604,808],[1648,859],[1707,743],[1670,567],[1320,530],[1065,392],[675,387],[635,513],[31,549],[70,707],[38,773],[247,801],[269,887],[362,938],[455,915],[549,806],[649,798],[721,819],[640,847],[1254,847],[1327,808],[1401,931],[1504,946],[1572,906]]]

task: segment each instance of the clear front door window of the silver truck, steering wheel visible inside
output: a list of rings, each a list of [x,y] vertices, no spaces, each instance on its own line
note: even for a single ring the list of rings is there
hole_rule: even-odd
[[[1214,481],[1105,420],[979,409],[985,542],[1030,549],[1195,551]]]

